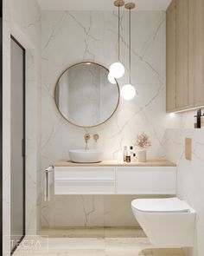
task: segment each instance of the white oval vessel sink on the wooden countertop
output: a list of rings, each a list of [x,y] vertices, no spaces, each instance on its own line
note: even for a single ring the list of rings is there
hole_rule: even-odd
[[[99,162],[103,161],[103,155],[103,151],[98,149],[69,150],[69,157],[73,162]]]

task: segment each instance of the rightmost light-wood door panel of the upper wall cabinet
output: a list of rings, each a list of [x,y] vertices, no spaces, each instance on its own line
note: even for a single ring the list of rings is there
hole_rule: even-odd
[[[204,105],[204,0],[188,0],[189,104]]]

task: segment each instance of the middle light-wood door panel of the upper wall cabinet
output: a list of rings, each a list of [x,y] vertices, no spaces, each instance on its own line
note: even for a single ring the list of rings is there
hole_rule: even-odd
[[[180,109],[188,106],[188,0],[175,3],[175,106]]]

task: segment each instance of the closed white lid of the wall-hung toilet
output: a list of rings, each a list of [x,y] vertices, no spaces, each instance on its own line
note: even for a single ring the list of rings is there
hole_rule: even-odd
[[[174,198],[161,199],[136,199],[131,202],[131,207],[141,212],[148,213],[188,213],[189,206],[186,202]]]

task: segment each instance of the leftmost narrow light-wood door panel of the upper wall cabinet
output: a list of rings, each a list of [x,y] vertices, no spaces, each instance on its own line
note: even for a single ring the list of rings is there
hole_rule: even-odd
[[[167,10],[167,111],[175,109],[175,0],[169,4]]]

